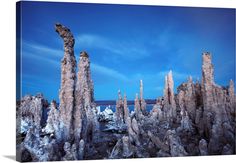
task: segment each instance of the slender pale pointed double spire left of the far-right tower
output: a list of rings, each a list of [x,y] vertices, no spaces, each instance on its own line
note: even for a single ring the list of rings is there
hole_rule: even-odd
[[[164,118],[170,121],[173,121],[176,118],[176,103],[174,97],[174,81],[172,71],[170,71],[165,77]]]

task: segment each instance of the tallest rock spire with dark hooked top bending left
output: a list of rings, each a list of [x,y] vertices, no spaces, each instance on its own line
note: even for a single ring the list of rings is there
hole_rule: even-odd
[[[63,125],[63,139],[72,138],[72,114],[75,103],[76,59],[74,56],[74,37],[67,27],[56,24],[56,32],[64,41],[64,57],[61,60],[60,117]]]

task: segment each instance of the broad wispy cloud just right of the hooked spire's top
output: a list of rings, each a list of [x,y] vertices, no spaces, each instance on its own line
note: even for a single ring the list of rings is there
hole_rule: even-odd
[[[142,59],[150,55],[147,48],[135,40],[113,40],[92,34],[79,35],[77,40],[80,47],[101,49],[125,59]]]

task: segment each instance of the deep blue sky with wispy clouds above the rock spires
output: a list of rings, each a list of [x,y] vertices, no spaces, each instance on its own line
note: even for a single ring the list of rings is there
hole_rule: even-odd
[[[74,34],[75,55],[88,52],[95,99],[129,100],[143,80],[144,97],[163,94],[173,71],[176,87],[201,80],[202,52],[212,53],[217,84],[234,79],[235,10],[135,5],[22,2],[22,95],[58,101],[63,41],[60,22]]]

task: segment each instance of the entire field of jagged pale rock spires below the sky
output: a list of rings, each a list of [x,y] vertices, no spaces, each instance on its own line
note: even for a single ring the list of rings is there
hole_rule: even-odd
[[[177,87],[170,71],[163,97],[146,111],[143,81],[130,112],[118,91],[116,111],[94,102],[89,55],[80,53],[76,75],[74,37],[55,25],[64,41],[59,106],[42,94],[17,102],[17,160],[53,161],[235,154],[234,82],[214,82],[212,55],[202,54],[202,81]]]

